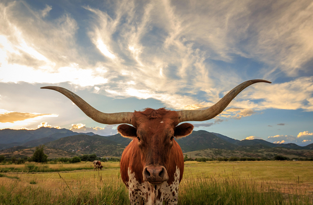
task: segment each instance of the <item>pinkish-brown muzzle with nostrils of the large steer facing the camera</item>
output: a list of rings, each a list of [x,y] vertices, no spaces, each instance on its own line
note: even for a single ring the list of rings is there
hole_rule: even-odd
[[[143,169],[143,180],[151,184],[161,184],[168,180],[164,166],[148,165]]]

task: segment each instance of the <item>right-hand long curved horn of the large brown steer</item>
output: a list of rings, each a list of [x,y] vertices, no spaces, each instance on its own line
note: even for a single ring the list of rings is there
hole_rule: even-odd
[[[179,110],[177,114],[179,116],[179,123],[185,121],[206,121],[214,118],[220,114],[227,105],[247,86],[257,82],[268,82],[265,80],[250,80],[241,83],[231,91],[229,91],[219,102],[205,110]]]

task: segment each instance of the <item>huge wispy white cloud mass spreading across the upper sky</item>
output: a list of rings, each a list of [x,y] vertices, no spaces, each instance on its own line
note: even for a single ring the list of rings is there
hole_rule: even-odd
[[[0,3],[0,82],[68,82],[95,86],[113,98],[153,98],[169,108],[197,109],[251,77],[216,62],[249,59],[264,64],[255,76],[270,80],[276,73],[296,76],[311,69],[302,66],[313,58],[309,1],[272,2],[268,8],[252,0],[102,3],[84,5],[84,21],[66,9],[76,4],[46,18],[57,8]],[[99,9],[104,7],[110,12]],[[230,104],[245,108],[232,118],[268,108],[313,111],[312,77],[248,90]]]

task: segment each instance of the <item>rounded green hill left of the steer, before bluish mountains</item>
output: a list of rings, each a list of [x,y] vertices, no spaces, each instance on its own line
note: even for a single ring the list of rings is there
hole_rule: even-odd
[[[97,156],[120,157],[125,148],[124,145],[113,142],[107,137],[100,135],[73,135],[64,137],[49,143],[48,147],[63,149],[77,154],[96,154]]]

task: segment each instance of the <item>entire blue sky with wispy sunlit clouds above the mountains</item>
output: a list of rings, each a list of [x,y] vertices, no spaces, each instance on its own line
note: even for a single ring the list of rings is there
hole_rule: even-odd
[[[264,79],[194,130],[313,143],[312,19],[312,0],[1,0],[0,129],[117,133],[42,86],[113,113],[203,109]]]

